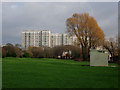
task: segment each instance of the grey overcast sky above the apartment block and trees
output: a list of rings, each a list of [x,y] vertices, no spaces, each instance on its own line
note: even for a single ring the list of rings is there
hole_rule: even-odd
[[[3,2],[2,42],[21,44],[22,30],[65,33],[65,21],[73,13],[88,12],[106,37],[118,34],[117,2]]]

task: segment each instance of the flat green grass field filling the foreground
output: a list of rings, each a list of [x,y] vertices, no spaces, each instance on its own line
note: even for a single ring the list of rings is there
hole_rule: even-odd
[[[118,67],[47,58],[4,58],[3,88],[118,88]],[[110,64],[116,65],[116,64]]]

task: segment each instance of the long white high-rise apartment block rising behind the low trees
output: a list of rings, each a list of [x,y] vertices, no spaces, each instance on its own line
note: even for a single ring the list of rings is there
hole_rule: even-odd
[[[68,34],[51,34],[49,30],[23,30],[22,48],[33,47],[55,47],[60,45],[74,45],[77,38],[70,37]]]

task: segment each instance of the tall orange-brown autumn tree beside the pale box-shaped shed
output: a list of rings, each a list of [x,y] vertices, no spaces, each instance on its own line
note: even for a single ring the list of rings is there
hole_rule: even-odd
[[[104,32],[88,13],[73,14],[66,20],[66,27],[70,36],[76,35],[82,47],[83,60],[88,58],[91,47],[97,47],[104,42]]]

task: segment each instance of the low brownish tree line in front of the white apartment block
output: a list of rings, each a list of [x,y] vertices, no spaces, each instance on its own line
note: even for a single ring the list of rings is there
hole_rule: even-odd
[[[20,45],[6,44],[2,47],[2,57],[31,57],[31,58],[58,58],[64,51],[71,50],[71,59],[81,58],[81,48],[77,46],[65,45],[50,47],[28,47],[22,50]]]

